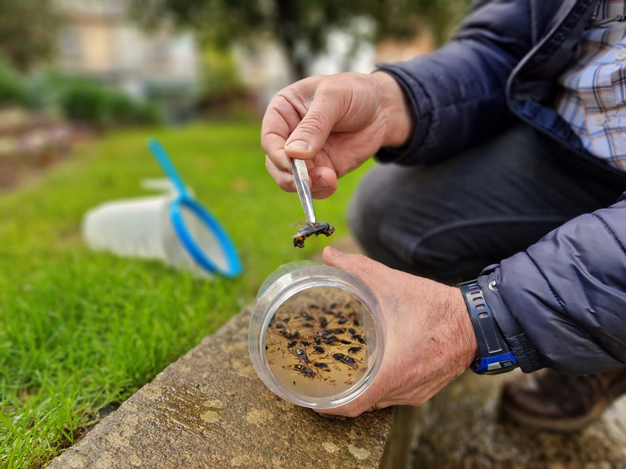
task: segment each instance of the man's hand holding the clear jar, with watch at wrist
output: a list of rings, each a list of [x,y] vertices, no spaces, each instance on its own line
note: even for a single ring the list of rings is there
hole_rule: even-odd
[[[374,382],[353,402],[324,409],[355,417],[364,411],[406,404],[419,406],[466,370],[478,343],[460,290],[332,247],[324,261],[360,278],[383,307],[385,356]]]

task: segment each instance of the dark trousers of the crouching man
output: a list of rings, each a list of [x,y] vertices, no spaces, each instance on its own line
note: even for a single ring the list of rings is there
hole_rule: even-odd
[[[348,219],[377,261],[450,284],[474,279],[626,190],[626,175],[609,181],[571,161],[517,124],[440,163],[377,165],[360,184]]]

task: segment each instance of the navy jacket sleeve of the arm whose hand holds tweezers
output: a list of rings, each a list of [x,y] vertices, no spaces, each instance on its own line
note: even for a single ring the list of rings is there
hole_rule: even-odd
[[[454,37],[431,54],[382,63],[415,111],[415,132],[400,151],[383,148],[382,163],[414,164],[445,158],[494,135],[511,122],[506,80],[531,49],[525,0],[474,2]]]

